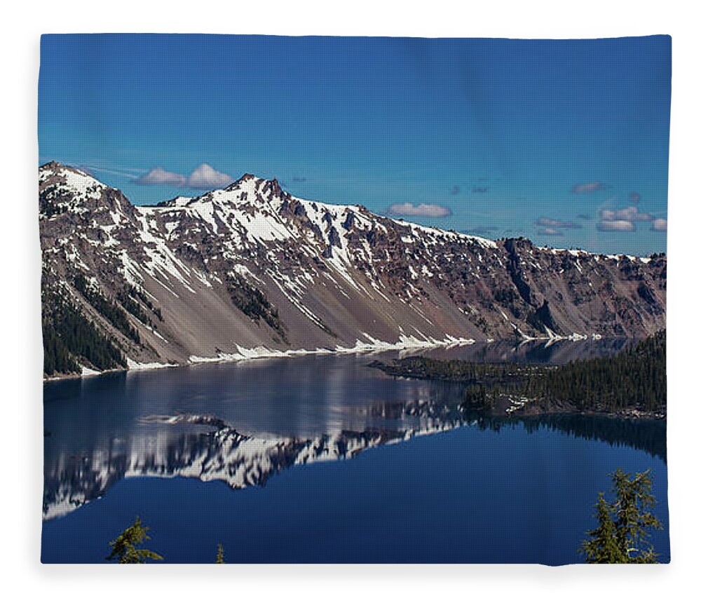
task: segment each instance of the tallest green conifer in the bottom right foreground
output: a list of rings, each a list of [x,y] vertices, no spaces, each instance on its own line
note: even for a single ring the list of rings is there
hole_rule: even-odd
[[[662,523],[651,511],[655,497],[650,470],[632,478],[620,468],[609,475],[615,501],[609,503],[599,492],[594,506],[599,525],[587,531],[589,538],[582,543],[581,553],[587,563],[657,563],[648,529],[662,529]]]

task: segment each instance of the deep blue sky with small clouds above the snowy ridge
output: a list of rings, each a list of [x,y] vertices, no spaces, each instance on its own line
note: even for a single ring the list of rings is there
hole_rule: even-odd
[[[137,205],[252,172],[489,238],[660,252],[671,46],[45,35],[39,161]]]

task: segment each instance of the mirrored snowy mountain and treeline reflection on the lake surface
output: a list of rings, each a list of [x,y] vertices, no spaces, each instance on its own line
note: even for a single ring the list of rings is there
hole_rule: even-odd
[[[465,426],[496,432],[517,424],[529,432],[554,429],[642,449],[665,460],[665,426],[655,421],[600,416],[496,419],[432,402],[376,403],[355,412],[366,419],[364,430],[341,429],[311,438],[239,433],[211,415],[144,416],[125,439],[108,438],[80,454],[47,456],[44,520],[99,498],[125,477],[195,477],[240,489],[264,485],[295,465],[349,459],[365,449]]]

